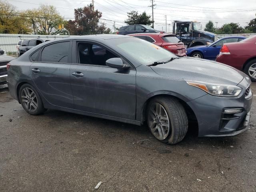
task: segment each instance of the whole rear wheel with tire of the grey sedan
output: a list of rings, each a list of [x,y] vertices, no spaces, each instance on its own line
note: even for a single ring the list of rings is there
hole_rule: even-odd
[[[46,111],[40,95],[30,84],[24,84],[19,91],[20,103],[30,115],[39,115]]]

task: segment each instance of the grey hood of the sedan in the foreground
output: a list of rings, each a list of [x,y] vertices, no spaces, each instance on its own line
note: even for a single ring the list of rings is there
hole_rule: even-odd
[[[177,80],[237,85],[244,73],[228,65],[204,59],[184,57],[151,67],[161,76]]]

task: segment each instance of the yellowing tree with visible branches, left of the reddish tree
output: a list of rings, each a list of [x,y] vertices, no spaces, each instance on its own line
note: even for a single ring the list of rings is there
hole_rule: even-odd
[[[66,23],[52,5],[40,5],[38,9],[25,11],[24,15],[30,16],[28,22],[34,34],[54,34],[59,25]]]

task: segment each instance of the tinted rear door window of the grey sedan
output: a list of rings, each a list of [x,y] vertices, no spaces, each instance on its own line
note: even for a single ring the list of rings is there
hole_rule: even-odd
[[[41,54],[42,62],[52,62],[52,63],[67,63],[69,51],[69,41],[59,42],[51,44],[44,47]]]

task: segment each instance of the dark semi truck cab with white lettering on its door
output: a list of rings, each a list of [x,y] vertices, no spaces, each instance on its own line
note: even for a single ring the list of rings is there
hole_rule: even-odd
[[[193,21],[174,21],[172,33],[187,47],[211,44],[215,38],[214,33],[201,30],[200,23]]]

